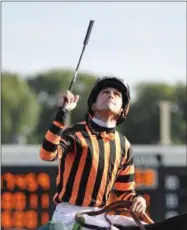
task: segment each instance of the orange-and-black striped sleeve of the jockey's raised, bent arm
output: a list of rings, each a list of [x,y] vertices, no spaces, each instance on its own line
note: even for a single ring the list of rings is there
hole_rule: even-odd
[[[44,161],[54,161],[62,156],[62,152],[67,149],[71,143],[68,138],[62,134],[65,129],[66,114],[63,111],[57,113],[55,120],[48,129],[42,146],[40,148],[40,158]]]

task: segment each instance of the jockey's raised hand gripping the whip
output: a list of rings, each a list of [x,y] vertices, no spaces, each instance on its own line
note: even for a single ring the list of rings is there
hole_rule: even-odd
[[[65,100],[65,107],[63,108],[65,110],[71,111],[75,109],[75,107],[77,106],[79,95],[74,95],[69,90],[66,90],[64,94],[58,95],[58,106],[59,107],[64,106],[64,100]]]

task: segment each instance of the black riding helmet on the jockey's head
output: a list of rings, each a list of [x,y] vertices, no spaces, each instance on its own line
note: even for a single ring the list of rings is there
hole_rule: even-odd
[[[97,79],[88,97],[88,113],[91,116],[93,115],[92,104],[96,101],[99,92],[106,87],[116,88],[122,93],[123,113],[117,121],[118,125],[127,117],[130,107],[130,89],[128,84],[126,84],[125,81],[121,78],[113,76],[103,76]]]

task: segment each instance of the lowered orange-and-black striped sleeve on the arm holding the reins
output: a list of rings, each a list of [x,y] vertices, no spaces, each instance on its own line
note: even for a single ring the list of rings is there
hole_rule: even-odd
[[[121,169],[114,184],[117,200],[132,200],[136,196],[133,153],[126,138],[125,145],[126,154],[122,159]]]

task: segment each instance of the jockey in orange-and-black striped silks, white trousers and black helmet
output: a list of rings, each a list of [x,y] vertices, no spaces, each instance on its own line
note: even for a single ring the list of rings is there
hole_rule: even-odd
[[[72,229],[77,212],[99,210],[111,197],[132,201],[132,211],[144,214],[146,201],[135,192],[131,144],[116,130],[129,112],[128,85],[116,77],[99,78],[88,97],[86,120],[65,127],[78,100],[70,91],[60,97],[40,149],[42,160],[59,162],[52,220]]]

